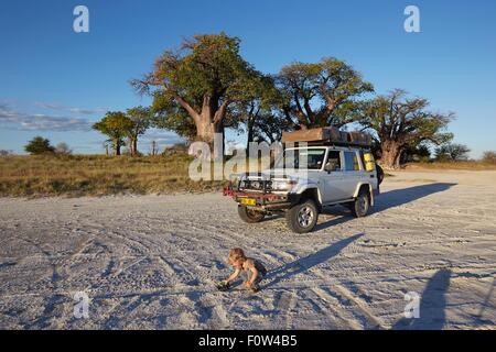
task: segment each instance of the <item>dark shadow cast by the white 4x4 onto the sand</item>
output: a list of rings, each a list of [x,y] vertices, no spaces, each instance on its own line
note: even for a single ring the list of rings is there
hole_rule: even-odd
[[[451,183],[435,183],[428,185],[419,185],[409,188],[400,188],[385,191],[375,198],[375,205],[370,208],[370,213],[385,211],[390,208],[412,202],[417,199],[450,189],[456,186]],[[325,208],[324,216],[334,216],[333,219],[321,222],[315,227],[315,231],[325,230],[330,227],[347,222],[355,219],[352,212],[343,206]]]

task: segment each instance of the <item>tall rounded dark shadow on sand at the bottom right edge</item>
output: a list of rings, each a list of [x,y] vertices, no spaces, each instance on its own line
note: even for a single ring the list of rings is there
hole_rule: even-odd
[[[440,270],[430,279],[420,298],[419,317],[401,318],[393,330],[441,330],[446,322],[446,292],[451,271]]]

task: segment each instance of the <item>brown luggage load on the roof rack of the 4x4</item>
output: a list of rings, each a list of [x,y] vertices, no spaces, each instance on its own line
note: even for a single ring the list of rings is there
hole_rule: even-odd
[[[371,138],[368,134],[358,131],[339,131],[333,127],[282,132],[282,143],[288,142],[306,142],[311,145],[371,146]]]

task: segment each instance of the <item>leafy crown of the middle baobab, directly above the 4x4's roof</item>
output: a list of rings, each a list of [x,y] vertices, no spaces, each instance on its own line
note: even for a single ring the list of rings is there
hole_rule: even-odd
[[[341,128],[354,122],[359,119],[357,99],[374,91],[359,73],[334,57],[284,66],[278,82],[285,97],[282,111],[296,128]]]

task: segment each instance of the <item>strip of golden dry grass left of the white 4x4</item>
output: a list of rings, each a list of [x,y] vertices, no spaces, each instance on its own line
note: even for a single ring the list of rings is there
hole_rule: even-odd
[[[222,182],[193,182],[192,158],[170,156],[4,156],[0,196],[103,196],[219,190]]]

